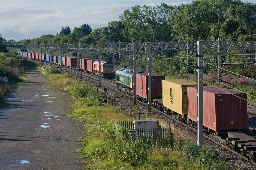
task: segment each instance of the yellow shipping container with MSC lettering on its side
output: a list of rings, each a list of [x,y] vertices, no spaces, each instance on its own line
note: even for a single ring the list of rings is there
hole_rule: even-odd
[[[188,114],[187,87],[196,85],[197,82],[184,79],[162,80],[164,109],[172,110],[186,120]]]

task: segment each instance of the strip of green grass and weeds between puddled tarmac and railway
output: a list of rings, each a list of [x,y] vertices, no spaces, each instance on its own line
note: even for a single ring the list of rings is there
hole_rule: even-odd
[[[46,70],[44,71],[46,72]],[[104,98],[92,84],[78,82],[68,74],[48,74],[50,83],[62,86],[74,98],[69,117],[83,126],[84,137],[79,140],[84,146],[75,152],[83,154],[86,169],[211,169],[231,170],[232,167],[220,156],[220,151],[207,146],[199,147],[195,141],[174,138],[172,143],[143,142],[140,137],[123,136],[116,131],[114,121],[132,121],[110,102],[100,103]]]

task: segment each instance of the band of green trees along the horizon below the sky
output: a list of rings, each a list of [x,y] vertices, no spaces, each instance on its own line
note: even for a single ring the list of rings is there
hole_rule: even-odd
[[[56,35],[3,44],[54,44],[98,42],[168,42],[221,39],[243,39],[256,34],[256,4],[240,0],[196,0],[188,4],[140,6],[125,10],[118,21],[91,29],[83,24],[62,27]],[[248,40],[251,37],[248,38]]]

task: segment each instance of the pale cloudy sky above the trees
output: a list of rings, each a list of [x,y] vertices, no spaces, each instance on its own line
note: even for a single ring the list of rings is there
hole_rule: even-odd
[[[33,39],[42,34],[56,35],[62,26],[92,29],[119,20],[134,5],[187,4],[192,0],[0,0],[0,32],[7,41]],[[247,2],[243,0],[243,2]],[[248,0],[256,3],[256,0]]]

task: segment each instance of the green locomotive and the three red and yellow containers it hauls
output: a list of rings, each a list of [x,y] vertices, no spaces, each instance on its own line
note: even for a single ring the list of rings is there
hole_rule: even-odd
[[[116,71],[116,82],[133,88],[133,70]],[[197,82],[165,80],[151,73],[151,97],[162,98],[162,108],[197,122]],[[120,89],[119,89],[120,90]],[[122,90],[122,89],[121,89]],[[122,90],[127,93],[127,90]],[[215,131],[247,129],[247,96],[243,92],[215,86],[203,87],[204,126]],[[136,95],[148,98],[148,73],[136,73]]]

